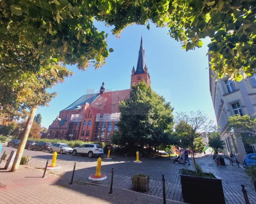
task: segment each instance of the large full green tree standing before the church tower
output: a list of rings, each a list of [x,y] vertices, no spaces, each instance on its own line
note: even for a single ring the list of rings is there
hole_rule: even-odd
[[[143,81],[130,91],[130,98],[119,104],[118,132],[112,136],[116,145],[143,149],[144,145],[168,144],[173,125],[173,108]]]

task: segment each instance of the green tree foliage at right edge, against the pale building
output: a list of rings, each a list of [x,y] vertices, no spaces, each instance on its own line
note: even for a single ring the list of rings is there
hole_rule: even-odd
[[[240,136],[247,144],[256,143],[256,115],[234,115],[228,118],[228,132],[235,130],[236,136]]]

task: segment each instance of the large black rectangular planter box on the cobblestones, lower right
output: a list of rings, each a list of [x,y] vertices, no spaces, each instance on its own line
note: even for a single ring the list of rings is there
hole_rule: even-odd
[[[180,174],[182,198],[192,204],[225,204],[222,180]]]

